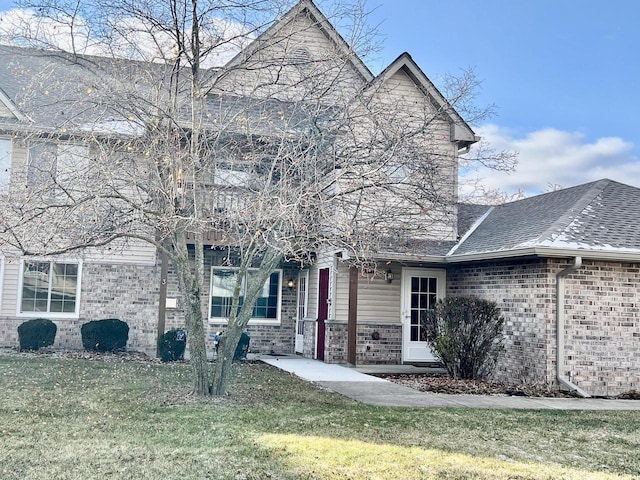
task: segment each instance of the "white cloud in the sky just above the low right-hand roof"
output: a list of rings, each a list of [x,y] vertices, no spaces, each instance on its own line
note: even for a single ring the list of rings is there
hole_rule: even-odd
[[[518,136],[497,125],[485,125],[478,134],[495,150],[518,152],[518,164],[509,173],[487,168],[467,172],[462,183],[480,179],[487,190],[500,191],[506,197],[518,192],[535,195],[601,178],[640,186],[640,159],[634,154],[634,145],[622,138],[589,142],[579,132],[553,128]],[[470,188],[463,186],[462,192],[469,194]]]

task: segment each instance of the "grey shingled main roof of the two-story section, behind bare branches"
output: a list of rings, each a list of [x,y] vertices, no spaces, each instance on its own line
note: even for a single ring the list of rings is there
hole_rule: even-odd
[[[156,111],[153,107],[168,105],[158,95],[169,87],[155,87],[170,81],[171,69],[165,65],[0,45],[0,101],[8,100],[24,114],[22,119],[0,117],[0,129],[135,135]],[[186,120],[191,102],[183,105],[180,115]],[[300,134],[333,114],[332,108],[303,102],[211,94],[205,122],[226,132]]]

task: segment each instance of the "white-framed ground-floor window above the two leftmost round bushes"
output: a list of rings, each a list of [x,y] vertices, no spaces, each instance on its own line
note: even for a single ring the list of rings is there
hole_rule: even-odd
[[[81,273],[81,262],[23,259],[18,315],[77,318]]]

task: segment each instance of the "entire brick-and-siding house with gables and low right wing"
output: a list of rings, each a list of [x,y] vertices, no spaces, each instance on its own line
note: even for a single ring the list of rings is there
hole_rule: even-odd
[[[80,192],[74,182],[85,171],[83,185],[112,185],[113,179],[100,182],[92,176],[95,169],[83,167],[102,158],[107,145],[124,153],[115,174],[102,174],[119,175],[119,182],[138,192],[136,177],[148,174],[143,160],[154,158],[135,141],[143,135],[137,120],[148,109],[131,108],[125,96],[118,97],[122,102],[106,96],[103,102],[83,101],[115,88],[114,80],[86,72],[113,69],[117,76],[123,68],[162,67],[124,60],[108,65],[5,46],[0,59],[0,194],[12,199],[5,225],[23,218],[26,207],[21,210],[16,199],[33,199],[46,187],[43,201],[55,208],[56,199]],[[85,63],[74,72],[78,61]],[[100,68],[87,69],[92,62]],[[496,301],[505,316],[499,379],[563,384],[592,395],[639,388],[637,188],[600,180],[496,207],[459,205],[458,155],[477,141],[473,130],[408,54],[373,75],[310,0],[300,1],[210,75],[200,113],[211,138],[206,154],[218,159],[216,170],[198,186],[198,196],[186,180],[202,168],[194,158],[167,158],[170,173],[162,179],[171,183],[175,198],[193,195],[208,205],[198,217],[206,225],[194,222],[191,239],[202,238],[204,246],[202,313],[210,332],[225,328],[237,266],[233,243],[242,238],[236,229],[230,241],[221,226],[240,225],[249,216],[268,214],[272,220],[276,211],[282,218],[313,211],[309,221],[317,225],[307,227],[323,241],[305,252],[306,262],[297,261],[302,256],[281,262],[265,283],[248,326],[253,351],[350,364],[431,362],[436,358],[421,337],[422,312],[447,295],[475,295]],[[127,95],[135,99],[142,90],[141,98],[161,96],[151,77],[127,85]],[[145,118],[147,127],[151,117]],[[216,130],[213,124],[226,127]],[[317,132],[325,136],[319,140]],[[182,140],[171,141],[179,152]],[[291,147],[296,142],[297,149]],[[264,174],[255,156],[276,158],[274,145],[291,147],[278,157],[287,159],[279,160],[283,181],[285,170],[295,169],[296,159],[313,149],[326,149],[326,155],[314,156],[323,159],[322,168],[298,168],[293,187],[306,185],[313,169],[331,181],[321,183],[316,196],[294,188],[291,204],[275,195],[271,204],[259,201],[268,197],[252,183]],[[59,192],[53,198],[52,181]],[[255,195],[244,195],[247,189]],[[291,206],[327,192],[332,201],[315,210]],[[147,194],[138,194],[140,204]],[[133,214],[113,218],[111,211],[126,209],[111,207],[118,208],[100,204],[103,210],[92,205],[78,211],[62,230],[47,228],[57,217],[46,210],[30,211],[31,223],[12,224],[49,246],[58,241],[51,232],[65,228],[86,239],[87,222],[98,222],[104,238],[94,229],[95,247],[46,257],[21,252],[15,238],[5,241],[2,345],[17,345],[16,329],[25,319],[46,317],[58,325],[57,347],[79,348],[82,323],[115,317],[130,326],[129,348],[153,353],[158,334],[184,324],[178,278],[161,245],[145,243],[135,232],[126,241],[96,241],[123,231],[127,222],[146,225]],[[145,211],[138,207],[132,211]],[[370,241],[362,234],[367,229]]]

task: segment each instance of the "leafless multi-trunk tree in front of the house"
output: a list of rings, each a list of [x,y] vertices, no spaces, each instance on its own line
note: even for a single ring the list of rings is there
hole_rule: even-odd
[[[277,0],[37,7],[14,40],[41,48],[16,64],[31,78],[16,99],[32,120],[20,135],[38,160],[26,190],[10,192],[5,242],[25,254],[137,241],[164,252],[196,394],[225,392],[240,335],[283,260],[305,263],[330,245],[365,265],[381,249],[452,235],[449,138],[475,80],[462,79],[449,102],[435,87],[416,102],[393,78],[374,79],[357,55],[372,41],[362,7],[339,9],[352,14],[344,37],[307,0],[292,10]],[[44,34],[52,24],[65,50],[60,33]],[[213,367],[203,314],[211,232],[238,268]]]

